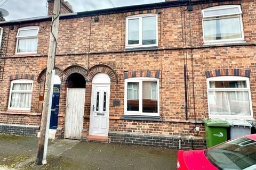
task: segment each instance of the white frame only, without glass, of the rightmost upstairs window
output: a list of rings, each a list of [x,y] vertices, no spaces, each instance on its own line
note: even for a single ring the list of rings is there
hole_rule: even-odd
[[[230,14],[222,14],[222,15],[211,15],[205,16],[205,11],[215,11],[215,10],[225,10],[228,8],[238,8],[238,13],[230,13]],[[223,43],[243,43],[244,41],[244,27],[243,27],[243,19],[242,19],[242,10],[240,5],[221,5],[209,7],[201,11],[202,12],[202,27],[203,27],[203,40],[205,45],[210,44],[223,44]],[[216,19],[228,19],[228,18],[239,18],[241,25],[241,34],[242,38],[231,38],[231,39],[220,39],[220,40],[205,40],[204,37],[204,21],[216,20]]]

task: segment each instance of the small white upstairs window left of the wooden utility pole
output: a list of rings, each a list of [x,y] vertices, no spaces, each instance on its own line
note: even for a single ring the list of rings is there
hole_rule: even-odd
[[[16,54],[37,53],[39,27],[23,27],[18,30]]]

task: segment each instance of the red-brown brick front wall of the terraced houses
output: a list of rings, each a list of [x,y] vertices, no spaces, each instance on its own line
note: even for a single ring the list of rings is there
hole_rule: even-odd
[[[250,70],[252,105],[255,116],[255,2],[255,0],[242,2],[246,41],[244,44],[204,46],[201,5],[194,5],[194,11],[185,11],[184,13],[181,11],[185,6],[160,9],[162,12],[158,14],[158,50],[125,52],[125,16],[131,15],[129,12],[99,15],[98,22],[94,22],[93,16],[60,20],[57,58],[55,61],[55,66],[59,68],[61,75],[63,75],[61,76],[58,134],[63,137],[63,132],[65,131],[67,83],[64,76],[68,74],[70,66],[79,67],[80,71],[90,72],[92,68],[102,67],[102,64],[104,64],[106,68],[110,68],[115,72],[117,81],[111,82],[110,85],[110,141],[115,141],[115,135],[112,133],[123,134],[126,132],[133,133],[133,135],[135,135],[134,133],[138,133],[138,135],[143,133],[149,136],[169,135],[169,138],[180,135],[184,140],[188,140],[189,135],[195,135],[195,140],[203,140],[205,133],[201,121],[202,118],[208,117],[205,71],[209,70]],[[148,11],[142,12],[147,13]],[[139,13],[139,11],[135,13]],[[183,49],[182,42],[181,13],[182,16],[185,16],[186,26],[183,29],[183,39],[186,40],[186,49]],[[15,55],[15,36],[18,28],[22,25],[14,25],[14,30],[10,30],[8,45],[9,27],[4,27],[1,55],[4,56],[6,53],[7,58],[5,60],[3,58],[0,59],[1,72],[4,66],[3,77],[0,75],[2,77],[0,77],[0,80],[2,79],[0,81],[0,120],[5,120],[2,121],[3,123],[33,125],[39,125],[40,123],[42,101],[39,100],[39,96],[43,96],[44,82],[38,82],[37,80],[46,68],[50,21],[30,24],[39,25],[36,55]],[[191,27],[191,37],[189,25]],[[184,35],[185,31],[186,37]],[[188,70],[187,121],[185,119],[184,59]],[[133,71],[159,72],[161,121],[123,120],[124,73]],[[31,112],[27,113],[27,115],[15,115],[17,116],[17,121],[15,121],[15,117],[8,120],[7,117],[14,115],[6,114],[6,110],[10,92],[10,75],[17,73],[34,74],[35,78]],[[87,79],[87,77],[85,78]],[[92,83],[87,81],[84,129],[89,129],[90,124],[91,86]],[[114,100],[120,100],[121,105],[113,106]],[[23,122],[18,121],[20,117],[23,117],[23,119],[21,118]],[[13,119],[14,121],[11,121]],[[195,125],[199,126],[199,132],[194,131]],[[86,138],[88,132],[83,131],[82,134],[83,138]],[[136,140],[132,139],[132,141]],[[176,138],[173,142],[177,145]],[[204,146],[204,142],[201,143]],[[162,144],[159,143],[159,145]],[[188,147],[186,143],[183,143],[183,145]],[[170,144],[170,146],[174,146],[174,144]]]

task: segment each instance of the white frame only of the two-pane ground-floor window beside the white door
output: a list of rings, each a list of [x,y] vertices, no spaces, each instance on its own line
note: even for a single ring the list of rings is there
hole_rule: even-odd
[[[142,81],[157,81],[157,113],[143,113],[142,112],[142,90],[143,84]],[[127,84],[129,82],[139,82],[139,111],[127,111]],[[159,79],[156,78],[130,78],[124,80],[124,115],[131,116],[159,116]]]

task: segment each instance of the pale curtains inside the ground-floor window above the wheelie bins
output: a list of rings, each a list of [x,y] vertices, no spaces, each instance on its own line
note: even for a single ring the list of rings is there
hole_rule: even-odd
[[[215,87],[211,84],[211,87]],[[236,88],[243,88],[244,83],[237,83]],[[248,91],[209,91],[210,113],[215,115],[250,115]]]

